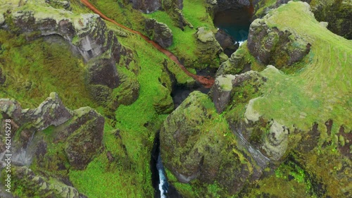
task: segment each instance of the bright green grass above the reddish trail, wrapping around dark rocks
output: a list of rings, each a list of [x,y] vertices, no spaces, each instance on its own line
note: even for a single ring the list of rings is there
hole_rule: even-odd
[[[132,4],[123,4],[121,1],[105,0],[105,1],[92,1],[92,4],[96,6],[102,13],[106,14],[108,18],[112,18],[118,23],[137,30],[146,35],[144,31],[144,20],[145,18],[155,18],[158,22],[165,23],[172,30],[173,42],[168,50],[172,51],[178,56],[186,67],[196,66],[198,56],[196,56],[196,33],[197,27],[208,27],[215,30],[213,27],[212,20],[208,13],[206,13],[205,2],[202,0],[196,1],[184,1],[184,13],[185,19],[191,23],[194,28],[184,27],[182,31],[175,24],[175,20],[172,16],[165,11],[156,11],[150,14],[143,14],[132,8]],[[119,6],[118,4],[122,4]]]

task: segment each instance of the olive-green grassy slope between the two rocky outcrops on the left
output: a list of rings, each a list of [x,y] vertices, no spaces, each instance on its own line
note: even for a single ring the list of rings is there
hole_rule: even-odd
[[[51,92],[57,92],[69,109],[94,107],[84,86],[82,58],[72,54],[68,44],[42,39],[27,42],[23,35],[4,30],[0,30],[0,42],[0,66],[8,75],[0,87],[1,98],[11,97],[23,108],[36,108]]]

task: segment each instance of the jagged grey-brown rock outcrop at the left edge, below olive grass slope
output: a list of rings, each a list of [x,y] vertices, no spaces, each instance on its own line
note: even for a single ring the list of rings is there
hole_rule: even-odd
[[[46,149],[31,144],[49,144],[42,142],[41,133],[49,126],[60,129],[53,134],[54,139],[65,142],[66,154],[74,168],[85,168],[102,146],[103,117],[89,107],[75,111],[66,109],[54,92],[36,109],[22,109],[17,101],[0,99],[0,110],[4,118],[11,119],[13,135],[20,133],[19,140],[13,141],[12,145],[15,163],[31,163],[37,151],[44,156]],[[71,120],[70,124],[67,124],[68,120]],[[19,128],[22,129],[16,131]]]

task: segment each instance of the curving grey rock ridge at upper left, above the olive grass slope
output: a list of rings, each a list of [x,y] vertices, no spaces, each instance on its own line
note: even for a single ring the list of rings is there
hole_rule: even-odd
[[[18,7],[11,4],[6,6],[11,12],[5,15],[5,29],[23,33],[27,39],[60,35],[72,46],[73,51],[79,51],[88,65],[87,89],[100,104],[108,106],[118,100],[108,94],[121,84],[116,66],[125,67],[137,74],[137,64],[130,64],[133,62],[132,50],[118,42],[113,31],[108,30],[98,15],[59,10],[44,1],[36,4],[26,2]],[[132,92],[138,95],[139,87]],[[134,100],[125,104],[131,104]]]

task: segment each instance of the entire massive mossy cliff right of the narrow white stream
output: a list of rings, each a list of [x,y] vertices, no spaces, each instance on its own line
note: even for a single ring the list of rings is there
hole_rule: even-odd
[[[282,20],[285,16],[291,18]],[[249,37],[220,66],[210,92],[214,107],[194,92],[163,123],[162,158],[175,176],[170,178],[177,179],[171,182],[189,183],[191,188],[175,185],[184,197],[210,197],[210,184],[220,197],[351,197],[352,123],[346,120],[351,93],[344,89],[350,82],[340,78],[341,73],[351,75],[346,68],[351,54],[344,52],[351,49],[350,41],[318,23],[308,4],[292,1],[254,21]],[[275,66],[244,72],[248,64],[260,70],[263,63]],[[289,64],[301,70],[292,75],[277,68]],[[327,68],[344,69],[327,73]],[[220,123],[226,125],[220,131],[227,140],[208,141]],[[237,157],[226,156],[231,151],[243,155],[242,166]],[[208,158],[220,171],[206,165]],[[273,183],[279,190],[269,192]]]

